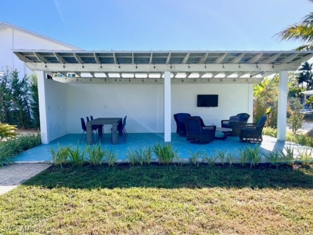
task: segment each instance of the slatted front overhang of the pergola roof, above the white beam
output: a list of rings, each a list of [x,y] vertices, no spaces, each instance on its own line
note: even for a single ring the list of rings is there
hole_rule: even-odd
[[[83,64],[262,64],[295,63],[313,51],[49,51],[15,50],[24,62]],[[58,59],[62,58],[62,62]],[[116,59],[115,59],[116,58]],[[28,59],[28,60],[27,60]],[[301,63],[300,62],[300,63]]]

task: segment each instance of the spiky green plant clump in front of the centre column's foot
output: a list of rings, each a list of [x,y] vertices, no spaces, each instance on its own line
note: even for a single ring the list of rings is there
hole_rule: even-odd
[[[177,151],[173,149],[173,145],[169,143],[157,143],[153,145],[152,151],[155,153],[160,164],[170,164],[174,158],[178,158]]]

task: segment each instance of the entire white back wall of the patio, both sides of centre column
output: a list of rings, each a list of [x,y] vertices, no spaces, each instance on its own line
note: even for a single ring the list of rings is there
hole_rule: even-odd
[[[172,84],[173,114],[187,112],[201,116],[206,125],[221,126],[222,119],[238,113],[252,116],[249,84]],[[129,133],[164,132],[163,85],[68,84],[68,133],[82,133],[80,118],[121,117],[127,115]],[[197,107],[197,94],[218,94],[218,107]],[[252,122],[252,118],[249,119]],[[110,132],[111,126],[105,128]]]

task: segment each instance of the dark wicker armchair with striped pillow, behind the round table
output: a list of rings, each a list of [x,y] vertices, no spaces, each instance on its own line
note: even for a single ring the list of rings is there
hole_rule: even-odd
[[[229,136],[239,136],[240,129],[245,127],[246,122],[249,118],[249,114],[237,114],[236,116],[230,117],[228,120],[222,120],[221,127],[232,129],[232,131],[229,133]]]

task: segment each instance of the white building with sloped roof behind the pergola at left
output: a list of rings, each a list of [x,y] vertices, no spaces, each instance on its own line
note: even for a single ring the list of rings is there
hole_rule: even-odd
[[[0,75],[15,69],[19,71],[20,77],[32,72],[13,53],[14,49],[79,50],[80,48],[13,24],[0,22]]]

